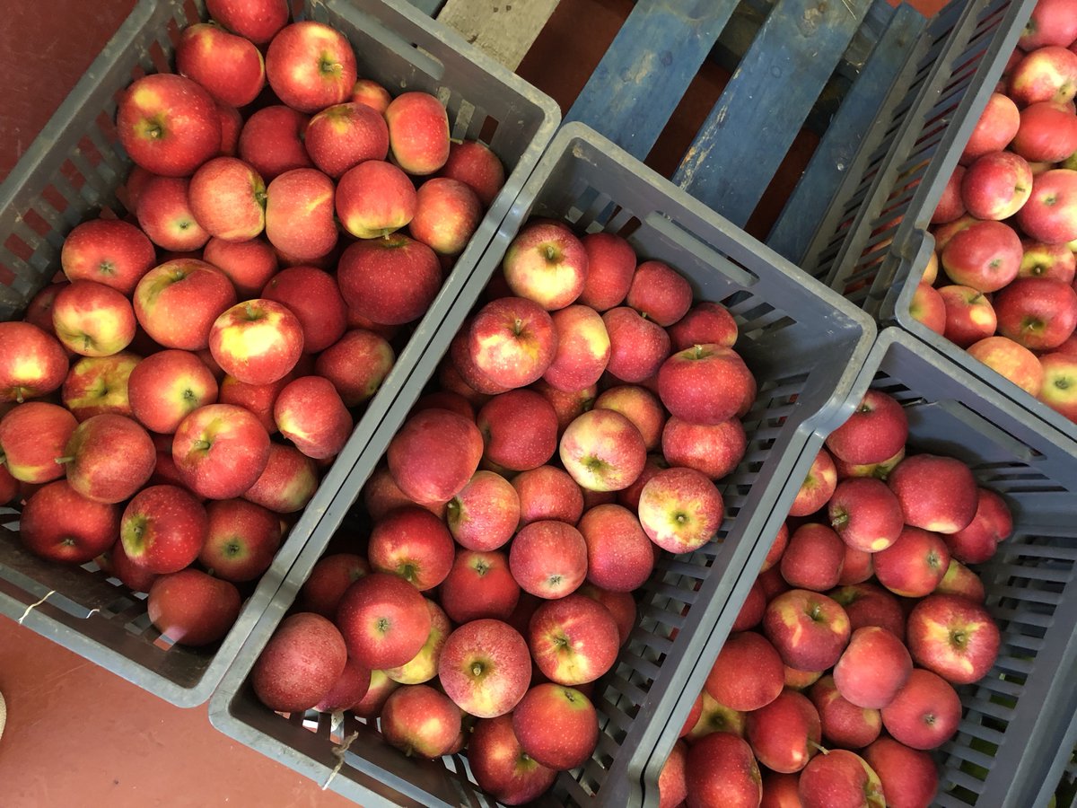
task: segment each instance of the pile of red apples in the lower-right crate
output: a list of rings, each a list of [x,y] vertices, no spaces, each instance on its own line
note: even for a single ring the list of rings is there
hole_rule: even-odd
[[[1013,525],[965,463],[906,457],[908,431],[870,390],[819,451],[662,769],[662,808],[933,803],[954,687],[998,655],[966,565]]]

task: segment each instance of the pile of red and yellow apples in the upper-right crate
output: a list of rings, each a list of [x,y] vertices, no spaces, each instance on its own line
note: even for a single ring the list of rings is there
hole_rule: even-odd
[[[910,314],[1077,421],[1077,3],[1039,0],[1018,44],[932,217]]]

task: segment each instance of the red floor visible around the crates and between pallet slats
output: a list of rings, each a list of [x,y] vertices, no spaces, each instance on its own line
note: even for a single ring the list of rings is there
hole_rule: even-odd
[[[918,6],[933,13],[938,4],[921,0]],[[134,0],[4,3],[0,178],[132,5]],[[567,108],[631,5],[630,0],[562,0],[519,72]],[[648,159],[658,170],[673,168],[722,82],[717,69],[701,71]],[[810,149],[806,142],[794,163],[806,161]],[[786,170],[779,183],[795,176]],[[210,726],[205,708],[173,708],[4,617],[0,692],[9,710],[0,740],[4,808],[350,805],[230,742]]]

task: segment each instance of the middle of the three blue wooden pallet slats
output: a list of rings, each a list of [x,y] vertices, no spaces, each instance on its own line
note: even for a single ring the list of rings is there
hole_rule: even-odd
[[[744,226],[869,5],[781,0],[673,181]]]

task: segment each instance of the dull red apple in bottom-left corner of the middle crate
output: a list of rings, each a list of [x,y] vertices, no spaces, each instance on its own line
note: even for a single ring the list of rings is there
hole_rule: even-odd
[[[302,712],[328,694],[347,661],[340,631],[320,614],[299,612],[285,617],[266,643],[251,684],[270,710]]]

